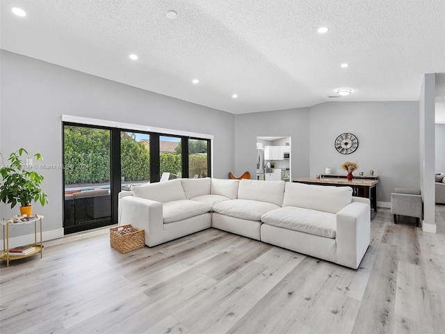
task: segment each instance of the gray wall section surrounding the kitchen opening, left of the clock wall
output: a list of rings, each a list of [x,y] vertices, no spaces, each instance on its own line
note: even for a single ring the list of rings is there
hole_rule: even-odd
[[[235,127],[235,175],[257,174],[257,136],[291,137],[291,175],[309,175],[309,108],[236,115]]]

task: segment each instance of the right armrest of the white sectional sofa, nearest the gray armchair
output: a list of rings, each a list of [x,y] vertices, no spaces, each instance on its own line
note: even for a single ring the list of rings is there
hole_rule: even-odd
[[[371,207],[352,202],[336,215],[337,263],[357,269],[371,241]]]

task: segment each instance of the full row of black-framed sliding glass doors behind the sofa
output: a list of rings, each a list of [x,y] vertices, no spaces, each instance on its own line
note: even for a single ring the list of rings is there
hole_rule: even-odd
[[[65,234],[118,223],[118,195],[131,187],[210,177],[210,140],[64,123]]]

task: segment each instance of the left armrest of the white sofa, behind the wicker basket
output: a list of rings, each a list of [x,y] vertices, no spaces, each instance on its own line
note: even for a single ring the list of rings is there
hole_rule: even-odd
[[[131,224],[145,230],[145,244],[156,246],[163,242],[162,203],[135,196],[119,199],[119,225]]]

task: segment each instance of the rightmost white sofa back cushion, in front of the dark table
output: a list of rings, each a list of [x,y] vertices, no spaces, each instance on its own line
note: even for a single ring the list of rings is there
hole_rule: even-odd
[[[337,214],[353,200],[350,186],[318,186],[286,182],[283,207],[304,207]]]

